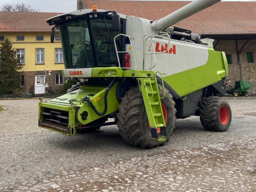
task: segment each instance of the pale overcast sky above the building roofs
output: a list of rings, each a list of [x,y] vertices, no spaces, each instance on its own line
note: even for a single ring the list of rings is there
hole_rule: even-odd
[[[180,0],[188,1],[188,0]],[[223,1],[256,1],[256,0],[223,0]],[[39,8],[41,12],[71,12],[77,7],[77,0],[0,0],[0,6],[4,3],[25,3],[32,8]]]

